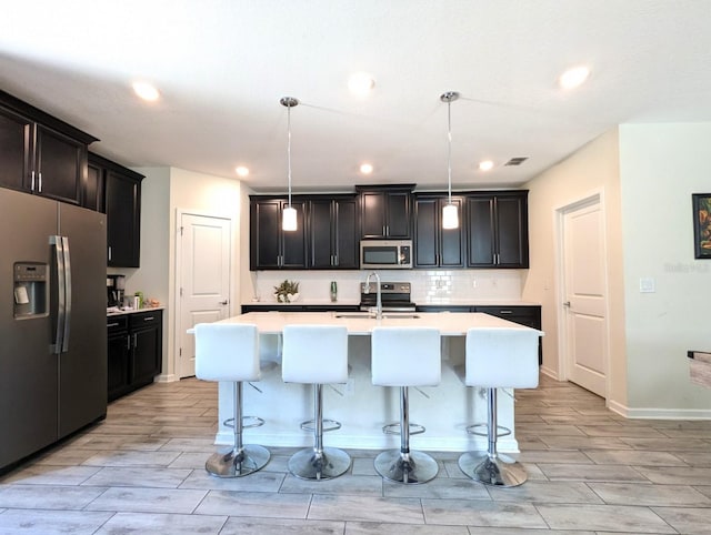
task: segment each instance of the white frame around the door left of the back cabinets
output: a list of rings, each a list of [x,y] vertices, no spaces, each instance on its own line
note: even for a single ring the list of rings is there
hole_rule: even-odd
[[[181,287],[181,282],[182,282],[182,234],[180,233],[180,228],[181,228],[181,223],[182,223],[182,216],[183,215],[197,215],[200,218],[212,218],[212,219],[223,219],[229,221],[230,223],[230,234],[231,234],[231,243],[230,243],[230,290],[229,290],[229,304],[228,304],[228,310],[227,310],[227,314],[228,317],[230,317],[232,315],[232,304],[234,303],[234,295],[237,294],[237,289],[236,289],[236,276],[234,276],[234,265],[236,265],[236,258],[234,255],[237,254],[237,246],[234,243],[236,240],[236,229],[234,229],[234,218],[232,218],[232,215],[230,214],[226,214],[226,213],[220,213],[220,212],[211,212],[209,210],[192,210],[192,209],[183,209],[183,208],[177,208],[176,209],[176,276],[173,280],[173,292],[174,292],[174,299],[173,302],[176,303],[176,313],[173,315],[173,370],[174,370],[174,375],[178,381],[180,381],[180,321],[182,317],[182,300],[180,299],[180,287]]]

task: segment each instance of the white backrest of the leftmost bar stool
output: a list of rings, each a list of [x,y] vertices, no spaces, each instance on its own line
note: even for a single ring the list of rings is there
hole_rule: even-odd
[[[198,323],[196,377],[203,381],[259,381],[257,325],[247,323]]]

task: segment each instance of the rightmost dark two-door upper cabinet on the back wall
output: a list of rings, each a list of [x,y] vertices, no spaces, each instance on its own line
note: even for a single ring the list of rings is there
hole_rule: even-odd
[[[465,196],[468,268],[528,268],[528,191]]]

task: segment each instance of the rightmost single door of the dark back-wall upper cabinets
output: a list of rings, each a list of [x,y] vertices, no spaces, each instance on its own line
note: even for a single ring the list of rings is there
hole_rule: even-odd
[[[528,211],[525,199],[520,195],[498,196],[497,265],[500,268],[528,268]]]

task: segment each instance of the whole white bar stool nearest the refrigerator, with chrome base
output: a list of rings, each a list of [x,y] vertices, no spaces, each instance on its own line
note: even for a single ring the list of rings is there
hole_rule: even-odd
[[[242,382],[259,381],[259,344],[257,325],[199,323],[196,333],[196,377],[203,381],[234,383],[234,446],[214,453],[204,470],[217,477],[241,477],[264,467],[270,453],[263,446],[242,444],[242,430],[264,423],[253,416],[242,416]],[[256,423],[244,425],[243,418]],[[224,422],[230,425],[230,420]]]

